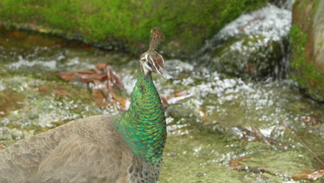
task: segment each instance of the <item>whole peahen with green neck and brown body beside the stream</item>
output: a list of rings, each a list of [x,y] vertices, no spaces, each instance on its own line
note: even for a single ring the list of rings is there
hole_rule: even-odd
[[[163,38],[151,30],[127,112],[71,121],[1,150],[0,182],[156,182],[167,134],[152,72],[165,77],[154,51]]]

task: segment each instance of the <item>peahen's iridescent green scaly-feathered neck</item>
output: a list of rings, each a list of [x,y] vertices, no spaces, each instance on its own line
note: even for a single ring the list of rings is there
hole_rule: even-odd
[[[118,130],[136,157],[159,166],[166,140],[164,110],[152,74],[145,76],[142,67],[138,68],[132,103],[118,123]]]

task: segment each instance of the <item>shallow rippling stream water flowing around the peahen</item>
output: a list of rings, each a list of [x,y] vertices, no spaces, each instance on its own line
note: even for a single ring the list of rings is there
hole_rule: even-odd
[[[1,28],[0,148],[73,119],[116,113],[116,107],[99,107],[86,83],[58,75],[107,63],[125,85],[120,96],[129,98],[137,60]],[[324,159],[324,105],[300,94],[291,80],[246,81],[168,58],[165,65],[168,80],[153,77],[161,96],[169,96],[160,183],[310,182],[291,177],[323,169],[312,152]]]

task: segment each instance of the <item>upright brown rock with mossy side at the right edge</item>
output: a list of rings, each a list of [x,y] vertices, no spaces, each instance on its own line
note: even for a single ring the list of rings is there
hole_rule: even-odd
[[[323,21],[322,15],[316,16],[319,12],[323,12],[323,6],[324,2],[321,0],[296,1],[293,8],[293,26],[290,32],[291,77],[298,82],[305,94],[318,101],[324,101],[322,52],[324,37],[323,33],[322,37],[319,36],[321,31],[316,31],[318,26],[323,30],[323,24],[314,24],[314,19],[322,17]]]

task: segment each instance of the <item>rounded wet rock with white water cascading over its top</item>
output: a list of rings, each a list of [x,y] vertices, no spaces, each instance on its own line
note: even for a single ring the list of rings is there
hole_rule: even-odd
[[[287,70],[291,12],[269,5],[242,15],[206,42],[198,59],[243,78],[282,78]]]

